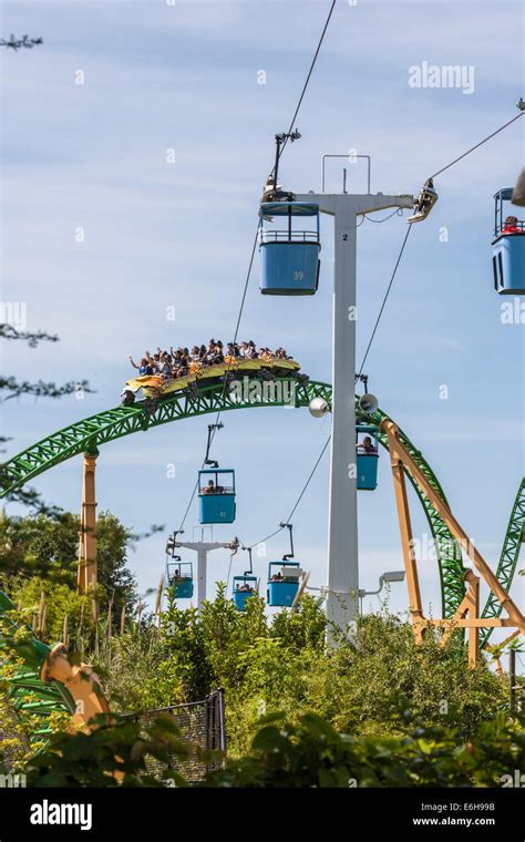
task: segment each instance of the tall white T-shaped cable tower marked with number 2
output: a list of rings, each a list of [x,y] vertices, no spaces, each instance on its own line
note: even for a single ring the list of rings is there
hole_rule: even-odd
[[[332,439],[328,523],[327,617],[347,629],[359,613],[358,501],[356,482],[357,217],[413,207],[411,195],[382,193],[295,196],[333,216]]]

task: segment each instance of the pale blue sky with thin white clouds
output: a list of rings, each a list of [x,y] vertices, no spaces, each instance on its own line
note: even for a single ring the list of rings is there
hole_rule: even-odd
[[[1,298],[25,304],[28,330],[60,337],[35,349],[7,345],[2,364],[20,380],[86,379],[94,390],[82,400],[7,402],[9,455],[116,405],[133,374],[128,355],[230,340],[274,135],[288,129],[328,8],[328,0],[1,2],[3,37],[44,42],[0,57]],[[523,14],[513,0],[339,0],[297,119],[301,138],[286,148],[280,181],[297,193],[319,191],[321,155],[354,150],[372,157],[372,192],[416,194],[430,174],[517,113]],[[469,84],[411,85],[411,68],[424,62],[459,65]],[[493,568],[524,474],[525,355],[524,327],[502,322],[493,289],[492,197],[517,177],[523,130],[523,120],[514,123],[435,179],[439,202],[412,232],[366,366],[381,408],[424,452]],[[364,193],[362,161],[330,161],[327,189],[342,189],[343,166],[348,189]],[[406,213],[359,228],[358,359],[405,226]],[[282,345],[302,371],[329,382],[328,218],[321,240],[311,298],[262,297],[256,258],[239,338]],[[99,511],[111,510],[134,532],[166,526],[130,556],[142,593],[163,574],[165,540],[186,509],[209,421],[167,424],[101,451]],[[237,521],[215,527],[214,538],[254,544],[287,517],[330,419],[251,409],[223,421],[214,455],[236,469]],[[359,493],[367,589],[403,566],[384,452],[379,478],[375,492]],[[32,485],[79,511],[81,479],[76,458]],[[327,501],[325,458],[294,515],[296,555],[313,586],[326,583]],[[412,502],[414,536],[424,543],[428,527]],[[196,526],[194,503],[186,540],[199,536]],[[267,563],[286,551],[281,533],[254,555],[257,574],[264,579]],[[229,562],[227,551],[210,556],[210,594]],[[231,575],[246,562],[246,554],[235,557]],[[437,616],[435,562],[422,558],[420,576],[424,605]],[[523,602],[519,584],[513,595]],[[403,584],[392,586],[389,604],[406,609]],[[374,606],[374,597],[366,600]]]

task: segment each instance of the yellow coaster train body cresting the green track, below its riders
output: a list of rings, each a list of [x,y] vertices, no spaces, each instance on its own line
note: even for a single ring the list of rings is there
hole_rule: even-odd
[[[186,389],[191,383],[203,383],[207,386],[214,380],[218,381],[227,374],[233,374],[235,379],[243,376],[254,377],[259,371],[269,371],[275,377],[286,377],[287,374],[299,371],[300,363],[296,360],[280,359],[279,357],[259,357],[256,360],[244,360],[239,357],[225,357],[225,361],[217,366],[202,366],[199,362],[189,364],[189,372],[186,377],[174,379],[163,378],[159,374],[144,374],[134,377],[126,381],[122,392],[124,404],[133,403],[136,392],[142,389],[145,398],[164,398],[172,392],[178,392]]]

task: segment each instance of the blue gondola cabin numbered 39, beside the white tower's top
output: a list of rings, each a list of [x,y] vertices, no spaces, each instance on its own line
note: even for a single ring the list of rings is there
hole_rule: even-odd
[[[319,284],[321,244],[319,205],[264,202],[260,206],[260,291],[269,296],[311,296]],[[269,223],[278,217],[278,227]],[[299,218],[313,220],[310,230],[296,229]]]

